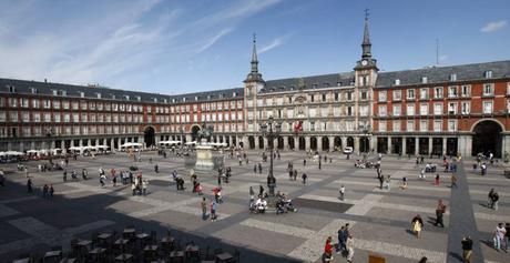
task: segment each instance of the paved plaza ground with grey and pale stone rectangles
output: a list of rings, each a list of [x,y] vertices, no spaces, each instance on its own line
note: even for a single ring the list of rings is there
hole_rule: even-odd
[[[261,151],[246,152],[249,163],[239,165],[237,159],[226,158],[232,166],[230,183],[222,183],[224,202],[218,205],[218,220],[202,219],[202,196],[192,192],[188,179],[190,166],[183,158],[170,153],[166,159],[155,151],[142,153],[141,162],[133,162],[126,153],[118,152],[95,159],[79,156],[70,160],[67,171],[89,171],[90,180],[62,182],[62,171],[39,172],[37,165],[43,161],[29,161],[34,193],[27,193],[27,179],[17,172],[16,164],[2,164],[6,186],[0,188],[0,255],[2,262],[19,254],[43,253],[54,245],[69,250],[72,237],[89,239],[94,232],[121,231],[126,225],[139,230],[154,230],[159,235],[171,231],[181,242],[193,241],[201,249],[222,247],[239,251],[242,262],[320,262],[327,236],[337,243],[337,231],[349,223],[354,237],[354,262],[368,262],[369,255],[386,259],[386,262],[418,262],[422,256],[428,262],[461,262],[460,240],[469,234],[475,242],[473,262],[508,262],[509,255],[492,249],[496,225],[510,221],[507,201],[510,180],[503,176],[504,164],[489,165],[484,176],[473,172],[473,160],[458,162],[458,188],[450,189],[451,173],[442,172],[442,159],[425,159],[425,163],[438,165],[439,186],[434,184],[435,173],[419,179],[425,164],[416,165],[415,158],[382,156],[384,175],[391,175],[391,189],[380,190],[375,169],[357,169],[356,159],[339,152],[322,153],[329,160],[318,163],[304,152],[282,151],[274,160],[276,191],[288,194],[297,212],[252,214],[248,212],[249,188],[257,192],[266,186],[268,162],[262,162],[263,172],[254,172],[253,165],[262,161]],[[303,160],[307,163],[304,165]],[[150,163],[152,159],[152,163]],[[377,159],[376,155],[369,159]],[[293,161],[298,180],[288,179],[287,164]],[[154,172],[154,164],[159,173]],[[119,183],[105,188],[99,183],[99,168],[105,171],[128,170],[136,165],[149,180],[149,194],[133,196],[130,185]],[[177,191],[171,172],[176,170],[185,179],[185,190]],[[308,175],[306,184],[302,173]],[[217,186],[216,172],[197,172],[204,188],[204,196],[212,198]],[[409,183],[400,189],[401,179]],[[52,199],[42,199],[43,184],[53,184]],[[338,199],[338,190],[345,185],[345,200]],[[487,208],[490,189],[500,194],[499,210]],[[438,200],[447,205],[445,227],[437,227],[435,210]],[[425,225],[421,237],[411,230],[411,219],[420,214]],[[334,254],[333,262],[346,262]]]

